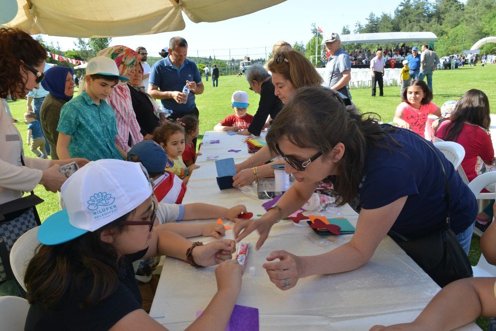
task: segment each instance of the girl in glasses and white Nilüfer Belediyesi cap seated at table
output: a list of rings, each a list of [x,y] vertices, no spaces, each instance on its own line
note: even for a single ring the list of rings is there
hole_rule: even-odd
[[[158,255],[191,267],[220,264],[217,293],[191,327],[226,328],[244,272],[231,260],[235,242],[191,243],[154,227],[156,200],[141,164],[91,162],[67,179],[62,198],[66,209],[40,226],[41,245],[26,269],[24,330],[165,330],[142,309],[132,266]]]

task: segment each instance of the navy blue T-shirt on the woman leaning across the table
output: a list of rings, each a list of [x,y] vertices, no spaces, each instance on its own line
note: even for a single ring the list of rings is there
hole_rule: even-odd
[[[408,196],[392,230],[405,236],[419,236],[443,227],[447,203],[439,159],[418,134],[404,129],[390,133],[402,147],[389,138],[386,140],[392,150],[368,147],[358,199],[350,205],[356,211],[362,207],[375,209]],[[451,162],[434,149],[448,176],[451,229],[458,234],[474,222],[477,201]]]

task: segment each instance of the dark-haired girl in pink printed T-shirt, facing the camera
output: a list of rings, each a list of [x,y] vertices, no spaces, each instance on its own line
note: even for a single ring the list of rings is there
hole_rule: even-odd
[[[401,95],[402,103],[396,107],[393,123],[397,127],[412,130],[424,136],[429,114],[441,116],[441,110],[433,99],[433,92],[423,80],[412,80]]]

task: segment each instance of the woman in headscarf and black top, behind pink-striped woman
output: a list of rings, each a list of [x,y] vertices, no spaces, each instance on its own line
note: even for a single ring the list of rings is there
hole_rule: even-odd
[[[153,130],[160,125],[158,114],[160,106],[148,93],[145,92],[143,82],[143,67],[138,62],[134,75],[128,76],[129,91],[131,92],[132,108],[136,120],[145,139],[151,139]]]

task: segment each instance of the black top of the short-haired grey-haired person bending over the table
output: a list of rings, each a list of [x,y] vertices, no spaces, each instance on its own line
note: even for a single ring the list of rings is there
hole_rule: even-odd
[[[272,79],[264,81],[260,88],[260,101],[258,102],[258,109],[256,110],[253,120],[248,127],[248,132],[254,135],[260,135],[260,132],[270,115],[274,120],[282,109],[281,99],[274,94],[274,84]]]

